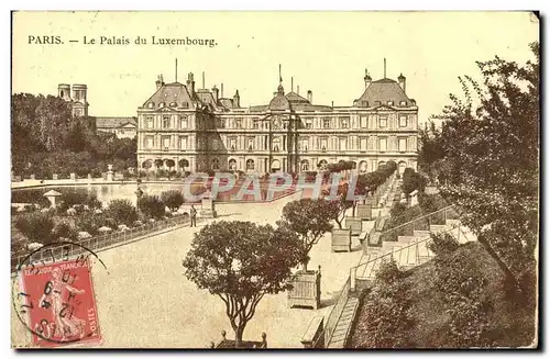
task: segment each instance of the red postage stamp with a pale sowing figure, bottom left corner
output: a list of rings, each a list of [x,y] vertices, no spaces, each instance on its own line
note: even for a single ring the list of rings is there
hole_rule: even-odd
[[[53,348],[100,343],[89,260],[46,263],[21,271],[19,293],[32,343]]]

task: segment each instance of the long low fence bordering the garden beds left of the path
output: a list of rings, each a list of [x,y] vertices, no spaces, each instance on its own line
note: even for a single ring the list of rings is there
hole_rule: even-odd
[[[99,251],[114,245],[122,245],[135,240],[144,235],[150,235],[168,228],[177,228],[180,225],[189,223],[188,216],[177,216],[174,218],[162,220],[154,223],[147,223],[139,227],[130,228],[123,232],[112,232],[109,234],[76,240],[75,244],[59,244],[58,246],[46,246],[43,250],[38,249],[32,255],[12,257],[11,270],[15,271],[20,266],[31,263],[47,263],[52,261],[67,260],[91,251]]]

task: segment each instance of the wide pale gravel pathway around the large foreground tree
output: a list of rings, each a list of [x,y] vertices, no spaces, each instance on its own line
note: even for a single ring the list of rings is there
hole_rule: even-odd
[[[262,204],[220,204],[219,220],[275,224],[283,206],[297,197]],[[200,227],[184,227],[99,253],[108,267],[108,272],[100,266],[92,271],[102,347],[205,348],[220,339],[222,329],[233,337],[223,302],[198,290],[184,276],[182,259]],[[330,311],[349,268],[360,259],[356,239],[353,246],[352,253],[331,253],[327,235],[314,247],[309,268],[321,266],[320,310],[288,308],[286,292],[266,295],[246,326],[245,339],[260,340],[265,332],[272,348],[300,348],[310,319]],[[12,341],[21,345],[28,336],[16,321]]]

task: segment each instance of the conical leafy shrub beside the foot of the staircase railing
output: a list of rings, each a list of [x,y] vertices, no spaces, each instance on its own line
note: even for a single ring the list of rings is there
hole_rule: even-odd
[[[415,321],[410,284],[392,259],[376,272],[374,285],[364,300],[364,321],[354,335],[359,348],[408,348]]]

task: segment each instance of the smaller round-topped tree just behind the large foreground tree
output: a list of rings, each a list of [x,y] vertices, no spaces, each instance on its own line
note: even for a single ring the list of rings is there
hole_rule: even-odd
[[[334,218],[339,207],[333,201],[324,199],[301,199],[287,203],[283,207],[282,221],[279,226],[286,226],[296,232],[301,239],[302,269],[307,270],[309,262],[309,251],[316,245],[324,233],[332,229],[330,221]]]

